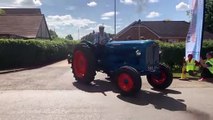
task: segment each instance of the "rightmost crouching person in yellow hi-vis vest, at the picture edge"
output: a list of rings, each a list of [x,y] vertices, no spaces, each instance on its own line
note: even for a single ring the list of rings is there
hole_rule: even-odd
[[[206,81],[213,78],[213,51],[206,54],[206,61],[201,58],[200,64],[203,67],[203,71],[199,81]]]

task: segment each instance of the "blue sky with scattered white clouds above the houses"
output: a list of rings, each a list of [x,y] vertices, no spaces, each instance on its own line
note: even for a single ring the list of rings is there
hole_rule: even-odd
[[[0,8],[40,8],[46,17],[49,29],[60,37],[71,34],[74,39],[98,32],[104,25],[105,31],[119,32],[134,21],[190,21],[186,11],[190,0],[0,0]]]

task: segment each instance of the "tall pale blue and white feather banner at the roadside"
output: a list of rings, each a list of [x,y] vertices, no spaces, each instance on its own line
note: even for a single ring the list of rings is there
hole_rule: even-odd
[[[195,60],[200,60],[201,45],[203,39],[203,22],[205,0],[192,0],[192,20],[186,37],[186,58],[193,54]]]

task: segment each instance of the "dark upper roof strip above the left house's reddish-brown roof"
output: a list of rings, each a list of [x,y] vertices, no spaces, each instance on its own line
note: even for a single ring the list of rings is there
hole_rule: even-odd
[[[5,11],[4,15],[42,15],[39,8],[10,8],[2,10]]]

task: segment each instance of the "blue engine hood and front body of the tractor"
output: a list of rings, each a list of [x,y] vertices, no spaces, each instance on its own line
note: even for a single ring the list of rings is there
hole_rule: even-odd
[[[122,66],[131,66],[141,75],[158,71],[159,46],[153,40],[113,41],[106,44],[101,68],[112,73]]]

